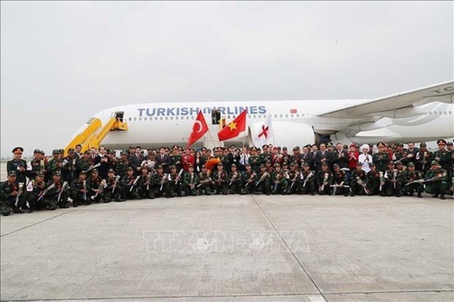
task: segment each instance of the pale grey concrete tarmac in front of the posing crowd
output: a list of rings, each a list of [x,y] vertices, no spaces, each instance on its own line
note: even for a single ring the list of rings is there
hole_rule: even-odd
[[[1,217],[2,301],[453,301],[453,199],[228,195]]]

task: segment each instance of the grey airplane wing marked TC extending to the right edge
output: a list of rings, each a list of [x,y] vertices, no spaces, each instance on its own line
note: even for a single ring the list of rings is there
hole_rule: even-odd
[[[367,103],[353,105],[341,110],[321,114],[322,117],[364,118],[367,116],[388,116],[395,110],[411,109],[432,102],[454,103],[454,81],[435,84],[404,93],[376,98]]]

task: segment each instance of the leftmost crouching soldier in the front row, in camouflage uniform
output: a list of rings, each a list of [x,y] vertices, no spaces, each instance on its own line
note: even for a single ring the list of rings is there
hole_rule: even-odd
[[[24,190],[25,188],[22,188],[22,192]],[[18,195],[19,197],[17,197]],[[0,184],[0,213],[3,216],[10,215],[12,211],[22,214],[24,211],[20,207],[24,204],[24,195],[20,195],[17,174],[15,171],[10,171],[8,172],[8,180]]]

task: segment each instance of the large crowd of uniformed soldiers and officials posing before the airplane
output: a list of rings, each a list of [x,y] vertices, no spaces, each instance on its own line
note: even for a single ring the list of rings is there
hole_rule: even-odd
[[[0,212],[24,213],[68,208],[69,204],[124,202],[228,194],[381,195],[425,191],[445,199],[453,194],[453,143],[437,141],[438,150],[407,144],[350,146],[308,144],[292,153],[279,146],[209,150],[173,146],[159,150],[131,146],[120,153],[98,149],[81,153],[82,146],[54,149],[52,158],[36,149],[34,159],[22,159],[13,149],[7,163],[8,180],[0,186]]]

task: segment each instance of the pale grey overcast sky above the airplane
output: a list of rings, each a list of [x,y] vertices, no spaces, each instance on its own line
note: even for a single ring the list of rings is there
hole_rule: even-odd
[[[116,105],[373,98],[453,79],[453,2],[1,2],[1,156]]]

